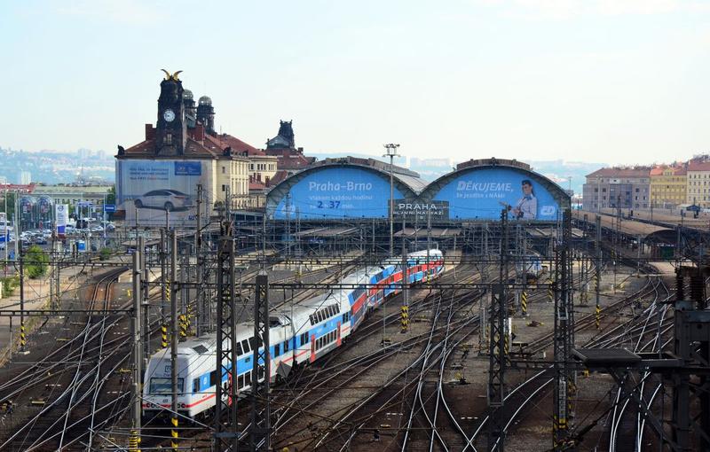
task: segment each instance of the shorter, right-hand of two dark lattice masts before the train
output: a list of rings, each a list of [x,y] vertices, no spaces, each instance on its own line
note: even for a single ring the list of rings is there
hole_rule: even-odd
[[[256,347],[253,354],[252,405],[251,405],[251,450],[271,450],[271,404],[269,386],[271,362],[269,354],[269,277],[266,272],[256,276],[256,297],[254,300],[254,338]],[[259,384],[259,379],[264,383]],[[264,407],[259,415],[260,406]]]

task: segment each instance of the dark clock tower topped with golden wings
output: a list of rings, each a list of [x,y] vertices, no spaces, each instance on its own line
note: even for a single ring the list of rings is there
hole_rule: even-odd
[[[187,121],[183,102],[183,82],[175,74],[166,74],[158,97],[158,122],[155,127],[156,155],[183,155],[187,140]]]

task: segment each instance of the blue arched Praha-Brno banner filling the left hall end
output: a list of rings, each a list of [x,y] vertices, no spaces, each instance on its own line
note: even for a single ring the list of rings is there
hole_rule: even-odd
[[[394,198],[404,196],[397,187]],[[390,181],[359,168],[322,168],[305,175],[280,200],[272,217],[285,220],[328,218],[386,218]]]

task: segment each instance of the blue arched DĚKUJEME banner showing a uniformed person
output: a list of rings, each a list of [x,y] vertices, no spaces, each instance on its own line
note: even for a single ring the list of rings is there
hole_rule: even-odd
[[[501,209],[519,221],[554,221],[559,206],[527,173],[512,168],[475,168],[449,180],[433,197],[448,201],[452,220],[497,220]]]

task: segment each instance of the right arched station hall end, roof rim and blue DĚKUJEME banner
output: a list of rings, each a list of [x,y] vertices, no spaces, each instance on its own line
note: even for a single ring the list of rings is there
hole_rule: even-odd
[[[533,196],[522,190],[525,181],[532,183]],[[460,163],[455,171],[427,185],[419,199],[422,203],[447,202],[452,221],[498,220],[503,205],[509,205],[514,219],[557,222],[564,209],[571,207],[569,194],[530,165],[495,158]],[[521,204],[526,207],[518,208]]]

